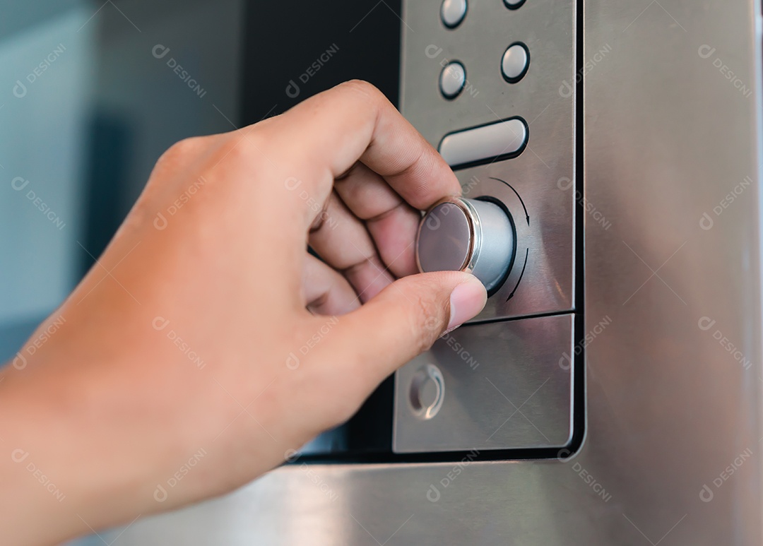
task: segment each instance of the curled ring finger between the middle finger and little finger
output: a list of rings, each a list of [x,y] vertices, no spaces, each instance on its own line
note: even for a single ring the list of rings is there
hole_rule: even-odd
[[[333,268],[342,271],[360,300],[370,300],[394,278],[381,263],[365,225],[332,193],[322,221],[311,231],[310,245]]]

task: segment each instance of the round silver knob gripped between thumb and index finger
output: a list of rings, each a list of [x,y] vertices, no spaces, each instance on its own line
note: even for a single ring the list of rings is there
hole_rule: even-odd
[[[506,277],[514,228],[490,201],[447,198],[423,217],[416,238],[419,271],[469,271],[491,291]]]

